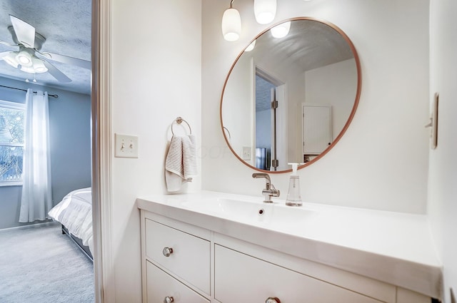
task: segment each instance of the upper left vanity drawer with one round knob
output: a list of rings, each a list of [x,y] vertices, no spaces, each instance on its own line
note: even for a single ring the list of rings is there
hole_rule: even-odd
[[[171,248],[169,257],[163,253]],[[210,293],[210,242],[146,219],[146,257],[176,277]]]

